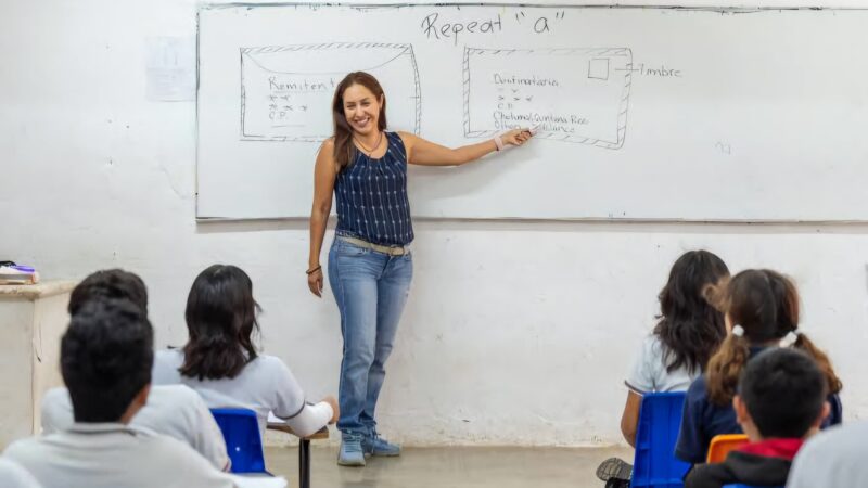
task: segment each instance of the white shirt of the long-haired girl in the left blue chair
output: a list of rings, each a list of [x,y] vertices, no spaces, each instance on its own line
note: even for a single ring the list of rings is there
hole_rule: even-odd
[[[256,412],[259,434],[265,438],[268,412],[281,419],[294,419],[305,409],[305,393],[290,369],[280,358],[259,355],[248,362],[238,376],[220,380],[199,380],[182,376],[180,349],[159,350],[154,355],[151,381],[154,384],[187,385],[205,400],[208,408],[245,408]],[[331,416],[331,408],[329,416]],[[323,415],[324,416],[324,415]],[[320,426],[326,425],[329,416]],[[318,427],[317,427],[318,428]]]

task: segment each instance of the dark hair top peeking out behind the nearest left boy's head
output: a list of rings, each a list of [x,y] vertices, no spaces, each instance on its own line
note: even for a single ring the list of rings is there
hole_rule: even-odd
[[[82,305],[94,298],[125,298],[148,314],[148,288],[144,282],[137,274],[123,269],[97,271],[78,283],[69,295],[69,314],[76,314]]]

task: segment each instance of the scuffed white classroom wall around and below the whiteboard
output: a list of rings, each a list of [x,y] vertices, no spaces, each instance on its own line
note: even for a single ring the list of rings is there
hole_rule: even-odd
[[[335,393],[337,312],[331,296],[306,290],[306,223],[196,224],[194,103],[144,98],[145,38],[192,40],[195,10],[186,0],[4,2],[0,257],[47,279],[140,273],[159,345],[182,343],[194,275],[238,265],[265,308],[265,350],[311,397]],[[382,431],[418,445],[620,441],[630,358],[668,266],[695,247],[733,270],[795,277],[803,328],[843,377],[845,414],[868,416],[858,374],[868,224],[419,221]],[[15,373],[0,374],[3,385]]]

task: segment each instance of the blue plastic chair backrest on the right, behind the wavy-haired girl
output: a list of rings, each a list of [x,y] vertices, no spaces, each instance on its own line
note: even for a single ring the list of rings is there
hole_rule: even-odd
[[[685,393],[644,394],[636,431],[630,486],[679,488],[690,464],[675,457]]]

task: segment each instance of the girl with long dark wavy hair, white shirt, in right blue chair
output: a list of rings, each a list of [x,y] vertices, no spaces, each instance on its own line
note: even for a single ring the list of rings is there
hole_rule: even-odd
[[[636,446],[642,396],[687,390],[724,341],[724,314],[705,300],[703,291],[728,275],[726,264],[707,251],[687,252],[673,265],[658,296],[658,324],[642,343],[624,382],[627,403],[621,416],[621,432],[630,446]],[[600,464],[597,476],[607,481],[607,487],[626,487],[631,472],[628,463],[611,458]]]

